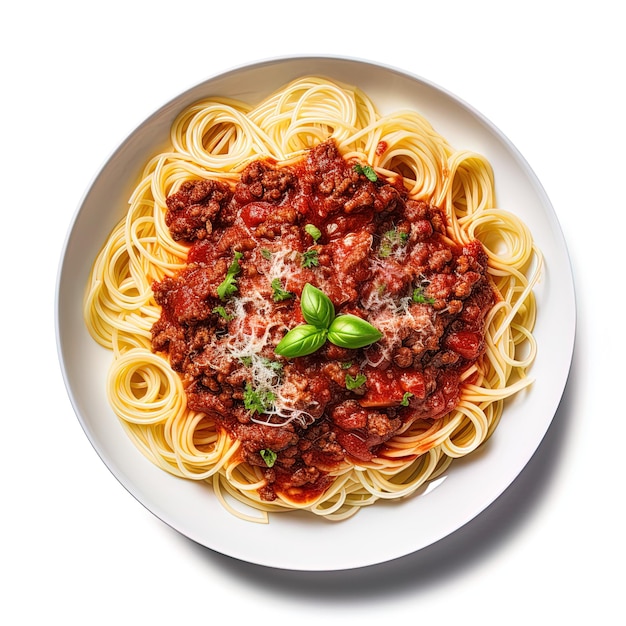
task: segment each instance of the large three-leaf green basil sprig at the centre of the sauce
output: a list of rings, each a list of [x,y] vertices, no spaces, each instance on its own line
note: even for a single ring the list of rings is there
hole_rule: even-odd
[[[302,290],[300,308],[307,323],[292,328],[274,349],[276,354],[287,358],[313,354],[327,339],[342,348],[364,348],[383,336],[378,329],[356,315],[335,315],[331,299],[309,283]]]

